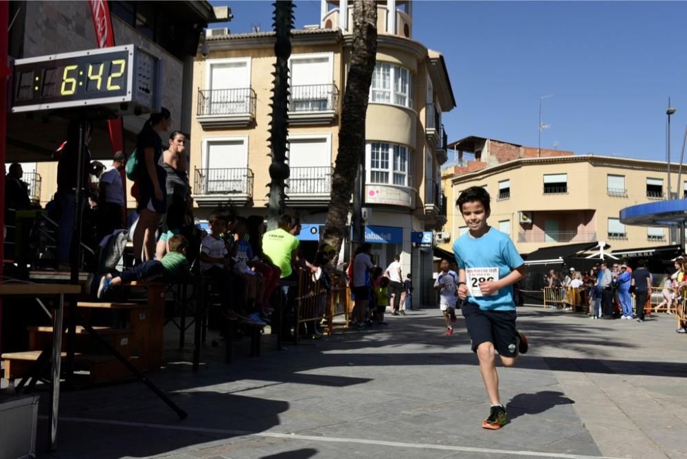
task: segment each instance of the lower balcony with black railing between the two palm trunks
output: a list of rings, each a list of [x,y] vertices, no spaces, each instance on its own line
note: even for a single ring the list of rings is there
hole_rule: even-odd
[[[286,189],[289,205],[309,207],[329,203],[333,173],[331,166],[291,168],[286,181],[289,185]]]

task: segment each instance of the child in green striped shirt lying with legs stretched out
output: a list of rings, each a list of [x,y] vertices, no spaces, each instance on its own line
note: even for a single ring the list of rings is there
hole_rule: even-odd
[[[153,276],[162,275],[165,280],[179,280],[188,273],[189,265],[186,260],[186,248],[188,240],[181,235],[172,236],[167,240],[168,253],[161,260],[148,260],[142,262],[131,269],[122,272],[119,276],[113,277],[107,273],[100,278],[98,287],[98,298],[106,293],[111,287],[117,287],[122,283],[132,280],[141,280]]]

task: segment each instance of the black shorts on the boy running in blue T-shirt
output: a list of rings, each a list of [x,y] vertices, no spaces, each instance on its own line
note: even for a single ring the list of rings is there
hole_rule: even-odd
[[[474,303],[464,303],[462,311],[473,352],[480,344],[491,342],[499,355],[517,355],[515,311],[484,311]]]

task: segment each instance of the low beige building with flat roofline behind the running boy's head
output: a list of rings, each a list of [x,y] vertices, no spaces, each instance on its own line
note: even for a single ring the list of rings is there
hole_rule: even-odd
[[[485,164],[477,155],[442,174],[451,210],[440,247],[450,249],[467,227],[455,209],[460,192],[482,186],[491,194],[490,223],[510,234],[521,254],[541,247],[605,241],[613,250],[668,243],[664,227],[631,227],[620,223],[629,205],[660,201],[667,196],[667,168],[660,161],[572,155],[557,150],[522,148],[527,155]],[[482,163],[482,164],[476,164]],[[687,196],[687,177],[673,190]],[[673,191],[673,197],[675,197]]]

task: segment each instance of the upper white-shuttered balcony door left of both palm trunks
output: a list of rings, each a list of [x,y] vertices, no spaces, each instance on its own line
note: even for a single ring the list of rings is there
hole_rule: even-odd
[[[223,59],[209,61],[207,87],[210,93],[206,107],[210,115],[250,113],[250,60]]]

